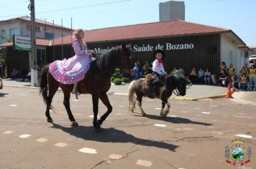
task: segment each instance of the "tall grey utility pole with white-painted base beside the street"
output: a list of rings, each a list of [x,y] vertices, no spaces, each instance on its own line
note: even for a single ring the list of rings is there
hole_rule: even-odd
[[[35,36],[35,0],[30,0],[28,6],[31,19],[31,86],[37,87],[37,44]]]

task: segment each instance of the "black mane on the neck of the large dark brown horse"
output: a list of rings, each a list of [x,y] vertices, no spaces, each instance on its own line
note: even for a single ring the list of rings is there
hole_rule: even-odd
[[[114,73],[117,61],[116,54],[120,52],[120,49],[122,49],[121,46],[114,47],[96,59],[97,67],[103,74],[106,72]]]

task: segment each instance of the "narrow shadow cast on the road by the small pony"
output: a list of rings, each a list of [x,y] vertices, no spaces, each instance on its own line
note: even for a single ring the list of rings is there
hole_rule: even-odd
[[[134,116],[140,116],[140,117],[145,117],[145,116],[142,116],[142,115],[134,115]],[[160,115],[146,115],[146,118],[150,118],[152,120],[162,120],[162,121],[165,121],[165,122],[172,122],[174,124],[180,124],[180,123],[183,123],[183,124],[193,124],[193,125],[212,125],[211,123],[206,123],[206,122],[195,122],[195,121],[192,121],[192,120],[189,120],[189,119],[186,119],[186,118],[183,118],[183,117],[160,117]]]

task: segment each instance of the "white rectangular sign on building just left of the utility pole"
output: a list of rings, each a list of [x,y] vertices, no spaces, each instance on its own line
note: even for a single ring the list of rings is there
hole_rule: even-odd
[[[14,35],[14,49],[17,50],[31,50],[31,39],[30,37],[22,37],[19,35]]]

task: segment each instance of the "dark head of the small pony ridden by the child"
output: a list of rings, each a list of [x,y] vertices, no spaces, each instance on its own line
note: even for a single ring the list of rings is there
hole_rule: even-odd
[[[186,85],[187,85],[187,79],[186,77],[175,77],[171,76],[167,79],[167,88],[169,90],[178,90],[175,95],[186,95]]]

